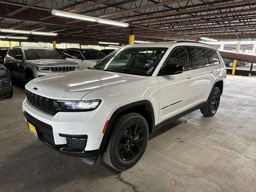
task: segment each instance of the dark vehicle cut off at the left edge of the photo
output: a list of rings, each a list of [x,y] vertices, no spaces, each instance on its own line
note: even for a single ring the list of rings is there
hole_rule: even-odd
[[[8,69],[0,64],[0,98],[12,98],[12,76]]]

